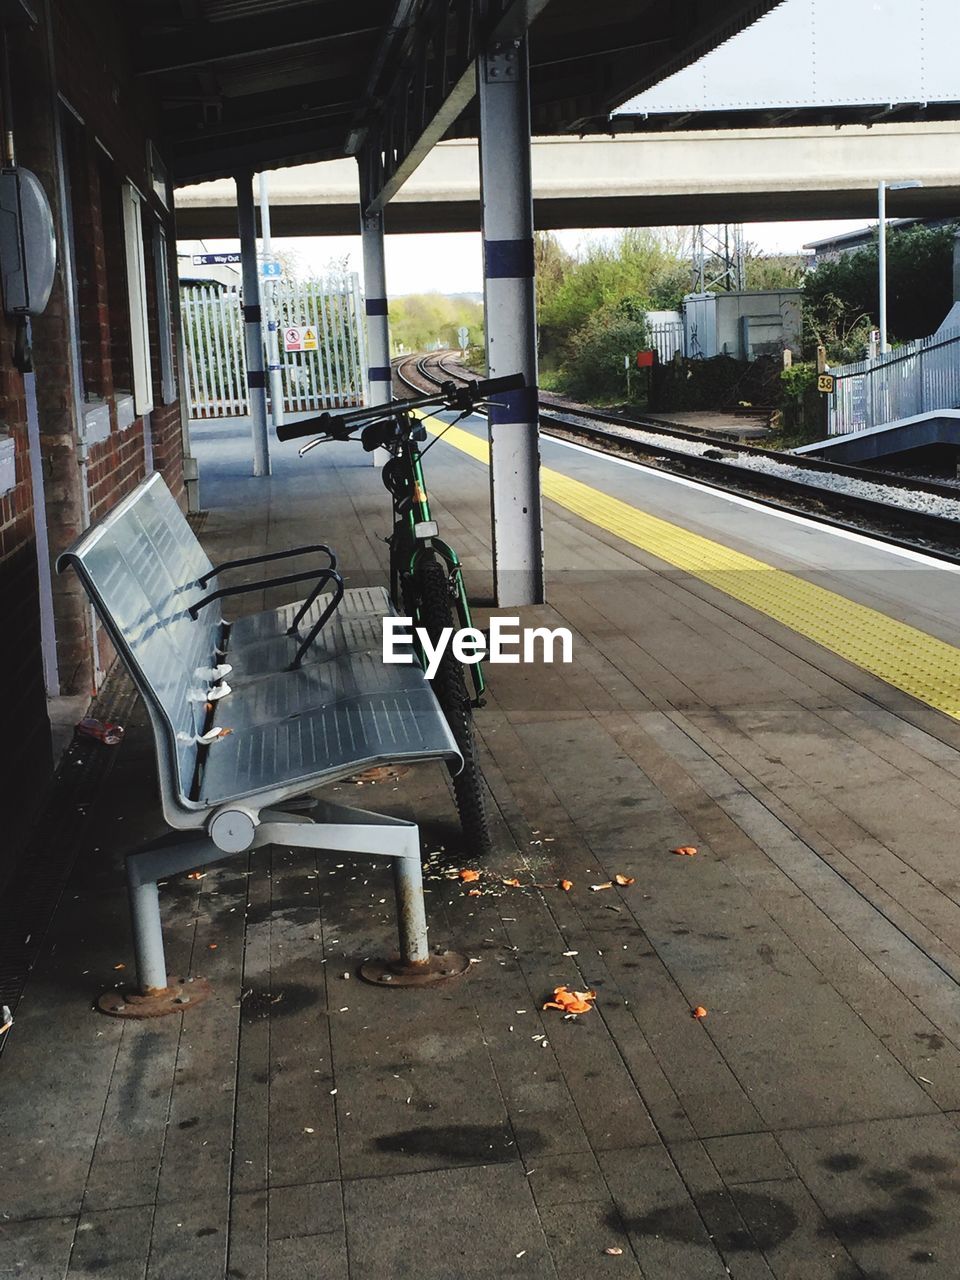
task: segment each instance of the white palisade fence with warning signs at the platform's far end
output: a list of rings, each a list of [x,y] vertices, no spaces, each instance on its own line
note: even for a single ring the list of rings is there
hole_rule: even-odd
[[[324,280],[265,282],[274,289],[287,412],[362,404],[366,385],[364,307],[356,274]],[[237,417],[250,411],[239,289],[188,284],[180,289],[191,417]],[[315,349],[285,352],[284,329],[308,329]],[[312,340],[311,340],[312,347]],[[266,360],[264,361],[266,366]]]

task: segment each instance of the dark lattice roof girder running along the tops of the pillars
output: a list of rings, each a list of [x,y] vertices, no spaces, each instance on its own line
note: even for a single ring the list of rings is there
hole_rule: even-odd
[[[428,0],[402,33],[399,70],[361,156],[362,204],[383,209],[476,93],[476,59],[497,41],[518,40],[549,0],[492,0],[483,27],[475,5]]]

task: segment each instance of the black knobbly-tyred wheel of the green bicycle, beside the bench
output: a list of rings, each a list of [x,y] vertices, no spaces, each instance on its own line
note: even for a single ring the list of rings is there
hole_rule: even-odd
[[[430,640],[436,643],[443,628],[453,627],[454,621],[451,580],[435,557],[424,557],[417,563],[413,571],[413,594],[420,626],[425,627]],[[467,851],[475,858],[485,858],[492,851],[493,842],[486,820],[474,708],[470,704],[463,667],[449,646],[431,685],[463,756],[463,768],[460,773],[453,773],[453,794],[457,799]]]

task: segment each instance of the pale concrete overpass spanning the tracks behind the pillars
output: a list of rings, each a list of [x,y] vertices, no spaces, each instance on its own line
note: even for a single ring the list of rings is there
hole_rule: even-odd
[[[876,216],[877,182],[919,178],[891,192],[890,216],[960,215],[960,124],[718,129],[538,138],[534,211],[541,229],[664,227],[721,221]],[[271,174],[278,236],[343,236],[358,227],[352,160]],[[233,182],[177,192],[178,234],[237,236]],[[390,201],[393,232],[479,230],[472,140],[436,146]]]

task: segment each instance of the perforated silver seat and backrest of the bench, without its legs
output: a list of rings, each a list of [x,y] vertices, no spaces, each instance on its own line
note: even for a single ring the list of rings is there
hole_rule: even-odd
[[[460,751],[417,664],[381,659],[383,588],[343,591],[300,667],[288,635],[301,602],[227,622],[210,563],[159,475],[145,480],[59,562],[79,573],[154,723],[164,814],[201,826],[234,801],[276,804],[378,764],[444,760]],[[205,585],[200,586],[200,580]],[[329,605],[317,596],[300,636]],[[229,692],[204,677],[229,663]],[[212,705],[212,712],[211,712]],[[211,723],[212,721],[212,723]],[[229,732],[205,744],[212,727]]]

